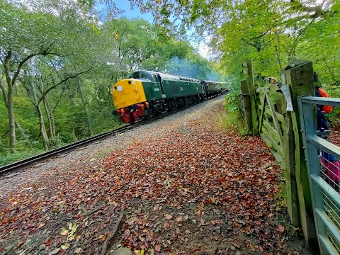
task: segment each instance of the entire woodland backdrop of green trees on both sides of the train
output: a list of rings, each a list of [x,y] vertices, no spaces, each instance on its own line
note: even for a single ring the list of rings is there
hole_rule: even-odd
[[[245,60],[279,77],[300,58],[340,96],[339,1],[130,4],[154,22],[121,18],[108,0],[0,0],[0,165],[118,127],[110,89],[136,69],[227,81],[238,91]],[[191,46],[202,40],[208,60]]]

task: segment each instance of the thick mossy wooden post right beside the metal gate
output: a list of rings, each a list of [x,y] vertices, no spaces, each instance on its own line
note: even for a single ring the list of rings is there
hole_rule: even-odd
[[[302,149],[297,96],[314,95],[312,62],[293,60],[281,71],[289,86],[293,111],[285,114],[285,167],[287,171],[288,212],[293,225],[302,227],[307,246],[317,247],[312,200],[307,176],[305,153]],[[310,116],[313,118],[313,116]]]

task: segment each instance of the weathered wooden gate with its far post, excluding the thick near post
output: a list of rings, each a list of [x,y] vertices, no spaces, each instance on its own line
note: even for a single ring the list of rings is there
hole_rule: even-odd
[[[240,106],[246,126],[254,135],[261,135],[263,142],[272,149],[278,162],[284,159],[283,94],[278,84],[263,84],[261,74],[253,77],[252,61],[243,64],[248,79],[242,79]],[[277,153],[276,153],[277,152]],[[283,162],[284,163],[284,162]]]

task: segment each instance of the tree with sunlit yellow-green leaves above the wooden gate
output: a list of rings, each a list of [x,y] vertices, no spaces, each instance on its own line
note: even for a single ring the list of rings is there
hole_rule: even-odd
[[[307,45],[303,35],[308,30],[316,23],[327,23],[331,17],[339,21],[340,11],[335,0],[322,4],[299,0],[149,0],[141,8],[153,13],[164,35],[173,32],[172,23],[179,24],[179,32],[185,33],[194,26],[198,36],[208,35],[212,38],[210,46],[218,56],[216,60],[222,60],[231,72],[236,73],[242,61],[253,58],[256,68],[264,67],[271,74],[278,72],[283,63],[292,60],[297,50]],[[315,38],[318,33],[312,36]],[[322,55],[321,49],[319,55]]]

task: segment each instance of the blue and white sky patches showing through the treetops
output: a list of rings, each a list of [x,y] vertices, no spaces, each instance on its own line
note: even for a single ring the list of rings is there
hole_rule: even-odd
[[[151,13],[140,13],[140,9],[135,7],[131,10],[130,2],[128,0],[115,0],[115,4],[118,8],[124,10],[124,13],[121,14],[121,16],[124,16],[126,18],[143,18],[149,23],[152,23],[153,18]],[[103,4],[97,4],[97,9],[101,10],[101,12],[104,11],[105,6]],[[191,45],[198,50],[198,53],[205,58],[208,58],[209,55],[209,47],[204,42],[200,42],[199,45],[194,44],[191,42]]]

